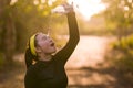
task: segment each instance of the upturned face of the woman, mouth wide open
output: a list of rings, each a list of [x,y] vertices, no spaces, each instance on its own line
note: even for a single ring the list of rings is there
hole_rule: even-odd
[[[35,38],[37,38],[37,44],[38,44],[37,48],[41,53],[52,54],[57,51],[54,42],[50,36],[43,33],[39,33]]]

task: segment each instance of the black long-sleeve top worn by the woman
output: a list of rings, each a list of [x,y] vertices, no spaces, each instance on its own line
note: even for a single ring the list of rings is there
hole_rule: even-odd
[[[39,61],[31,65],[24,77],[25,88],[66,88],[68,77],[64,65],[73,53],[79,40],[75,13],[68,13],[70,37],[66,45],[49,62]]]

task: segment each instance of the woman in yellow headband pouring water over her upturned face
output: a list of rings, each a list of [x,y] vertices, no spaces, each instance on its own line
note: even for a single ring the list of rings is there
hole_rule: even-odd
[[[80,36],[73,8],[69,6],[64,9],[69,23],[69,42],[55,53],[55,45],[50,36],[37,33],[30,37],[25,51],[25,88],[66,88],[68,86],[64,65],[78,45]]]

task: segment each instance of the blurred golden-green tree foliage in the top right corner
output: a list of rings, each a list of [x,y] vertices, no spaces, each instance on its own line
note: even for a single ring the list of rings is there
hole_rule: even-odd
[[[117,36],[133,33],[133,0],[102,0],[106,3],[104,12],[109,28],[116,29]]]

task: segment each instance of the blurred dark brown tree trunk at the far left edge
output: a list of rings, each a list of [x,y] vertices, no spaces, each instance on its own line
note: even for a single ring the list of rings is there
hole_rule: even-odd
[[[16,26],[10,2],[11,0],[0,0],[0,47],[8,62],[12,62],[12,55],[16,46]]]

